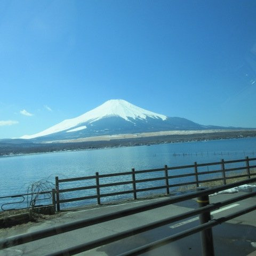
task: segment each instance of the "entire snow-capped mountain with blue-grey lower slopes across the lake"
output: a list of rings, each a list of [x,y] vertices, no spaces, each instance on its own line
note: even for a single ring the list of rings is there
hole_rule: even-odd
[[[167,117],[125,100],[108,100],[81,116],[66,119],[42,132],[24,135],[21,139],[50,141],[120,133],[220,128],[223,129],[218,126],[200,125],[181,117]]]

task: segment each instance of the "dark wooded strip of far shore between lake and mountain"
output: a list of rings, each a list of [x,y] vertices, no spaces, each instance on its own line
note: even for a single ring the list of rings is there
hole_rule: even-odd
[[[60,153],[93,149],[151,146],[165,143],[202,142],[213,140],[245,139],[256,137],[256,130],[218,131],[212,133],[174,134],[109,141],[85,141],[67,143],[30,143],[28,145],[8,144],[3,148],[0,142],[0,157],[23,156],[45,153]],[[4,145],[6,147],[6,144]],[[3,148],[3,149],[2,149]]]

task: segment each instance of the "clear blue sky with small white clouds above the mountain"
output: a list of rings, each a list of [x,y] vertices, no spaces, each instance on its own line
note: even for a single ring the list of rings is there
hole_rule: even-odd
[[[0,1],[0,138],[109,99],[256,127],[255,1]]]

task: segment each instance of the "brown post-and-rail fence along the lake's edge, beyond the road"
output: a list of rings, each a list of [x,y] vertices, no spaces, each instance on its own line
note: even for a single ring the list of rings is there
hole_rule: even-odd
[[[224,161],[224,159],[221,159],[220,162],[213,162],[213,163],[202,163],[197,164],[195,162],[192,165],[183,165],[183,166],[172,166],[168,167],[167,165],[164,166],[164,168],[158,168],[158,169],[151,169],[151,170],[139,170],[135,171],[133,168],[130,172],[119,172],[119,173],[109,173],[109,174],[99,174],[98,172],[95,173],[95,175],[87,176],[87,177],[78,177],[78,178],[68,178],[68,179],[59,179],[59,177],[55,177],[55,189],[56,189],[56,204],[57,204],[57,211],[60,211],[60,204],[61,203],[68,203],[68,202],[75,202],[75,201],[81,201],[86,199],[97,199],[97,203],[101,204],[101,198],[102,197],[109,197],[109,196],[116,196],[116,195],[125,195],[125,194],[133,194],[133,198],[137,199],[138,193],[142,191],[149,191],[149,190],[156,190],[156,189],[166,189],[166,194],[170,194],[170,188],[173,187],[179,187],[179,186],[185,186],[185,185],[196,185],[196,187],[199,187],[200,184],[209,182],[209,181],[222,181],[223,185],[227,183],[228,180],[234,179],[234,178],[251,178],[253,176],[256,176],[256,173],[251,173],[252,168],[256,168],[256,165],[250,165],[250,161],[256,161],[256,158],[249,158],[245,157],[245,159],[238,159],[238,160],[231,160],[231,161]],[[226,168],[225,164],[232,164],[232,163],[245,163],[245,166],[241,167],[233,167],[233,168]],[[217,165],[220,167],[218,170],[214,171],[198,171],[199,167],[204,166],[213,166]],[[186,173],[186,174],[177,174],[177,175],[170,175],[169,171],[174,170],[180,170],[180,169],[194,169],[193,173]],[[240,175],[228,175],[231,171],[239,171],[239,170],[245,170],[245,174]],[[141,173],[151,173],[151,172],[162,172],[163,177],[157,177],[157,178],[148,178],[148,179],[136,179],[137,174]],[[221,178],[214,178],[214,179],[207,179],[207,180],[201,180],[200,177],[204,174],[214,174],[219,173],[222,175]],[[129,181],[123,181],[123,182],[110,182],[110,183],[103,183],[101,182],[104,178],[110,178],[110,177],[120,177],[130,175],[131,180]],[[182,182],[182,183],[171,183],[172,180],[177,178],[185,178],[185,177],[194,177],[194,181],[189,182]],[[70,181],[81,181],[81,180],[94,180],[95,185],[90,186],[83,186],[83,187],[75,187],[75,188],[61,188],[60,189],[60,183],[66,183]],[[157,187],[145,187],[145,188],[137,188],[138,183],[142,182],[149,182],[149,181],[165,181],[165,184],[163,186],[157,186]],[[131,189],[124,190],[124,191],[117,191],[117,192],[111,192],[111,193],[105,193],[102,194],[101,188],[105,187],[115,187],[119,185],[131,185]],[[62,193],[71,192],[71,191],[78,191],[78,190],[88,190],[88,189],[95,189],[94,195],[89,196],[83,196],[83,197],[73,197],[73,198],[63,198],[60,199],[60,195]]]

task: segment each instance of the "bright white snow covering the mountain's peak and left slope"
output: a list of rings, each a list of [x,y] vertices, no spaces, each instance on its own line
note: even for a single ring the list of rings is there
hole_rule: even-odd
[[[130,119],[146,119],[146,118],[157,118],[166,120],[167,116],[160,115],[143,108],[139,108],[125,100],[108,100],[97,108],[94,108],[85,114],[72,118],[66,119],[59,124],[56,124],[42,132],[33,135],[23,135],[20,139],[34,139],[37,137],[42,137],[52,133],[57,133],[61,131],[66,131],[74,127],[74,129],[79,129],[77,127],[79,124],[89,122],[93,123],[105,117],[117,116],[125,119],[127,122],[132,122]],[[75,131],[73,129],[73,131]],[[83,127],[85,129],[85,127]],[[78,131],[76,130],[76,131]]]

